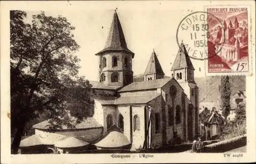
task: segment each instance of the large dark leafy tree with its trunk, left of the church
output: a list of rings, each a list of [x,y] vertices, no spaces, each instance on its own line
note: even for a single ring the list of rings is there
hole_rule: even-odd
[[[91,116],[91,85],[78,77],[79,45],[65,17],[10,11],[11,134],[16,153],[27,122],[46,113],[52,128]]]

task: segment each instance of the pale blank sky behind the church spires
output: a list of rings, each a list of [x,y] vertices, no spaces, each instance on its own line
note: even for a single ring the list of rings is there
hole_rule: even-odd
[[[89,80],[98,80],[98,58],[95,53],[104,48],[116,8],[127,47],[135,53],[134,75],[144,73],[151,53],[155,49],[165,75],[171,76],[170,69],[179,49],[176,41],[178,25],[193,11],[183,10],[179,6],[172,6],[170,9],[157,2],[154,5],[136,5],[129,2],[115,5],[106,3],[104,8],[95,4],[93,6],[85,4],[78,9],[44,10],[42,8],[42,11],[45,11],[47,16],[66,17],[75,26],[74,39],[80,45],[79,51],[76,52],[81,60],[79,75],[84,75]],[[40,13],[40,10],[26,12],[28,13],[26,21],[30,22],[32,15]],[[191,62],[196,69],[195,76],[205,76],[205,61],[191,59]]]

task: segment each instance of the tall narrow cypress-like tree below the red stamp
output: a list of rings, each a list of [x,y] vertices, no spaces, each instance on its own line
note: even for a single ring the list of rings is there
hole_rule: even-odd
[[[230,95],[231,95],[231,85],[229,81],[229,76],[221,77],[221,85],[220,85],[220,93],[221,93],[221,108],[222,115],[227,118],[230,114]]]

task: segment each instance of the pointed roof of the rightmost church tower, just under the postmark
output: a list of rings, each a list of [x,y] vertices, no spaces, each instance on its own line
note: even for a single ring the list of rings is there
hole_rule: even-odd
[[[177,56],[175,58],[172,70],[180,69],[180,68],[194,69],[194,66],[190,61],[190,58],[187,54],[187,50],[186,50],[185,45],[183,44],[183,42],[180,45],[180,49],[179,49],[179,51],[177,53]]]

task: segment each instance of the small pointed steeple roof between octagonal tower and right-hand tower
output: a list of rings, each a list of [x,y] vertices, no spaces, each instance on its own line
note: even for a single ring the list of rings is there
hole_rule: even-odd
[[[155,50],[153,50],[150,61],[147,64],[146,70],[144,74],[151,74],[151,73],[156,73],[156,74],[162,74],[163,73],[163,69],[159,63],[159,60],[157,59],[157,55]]]

